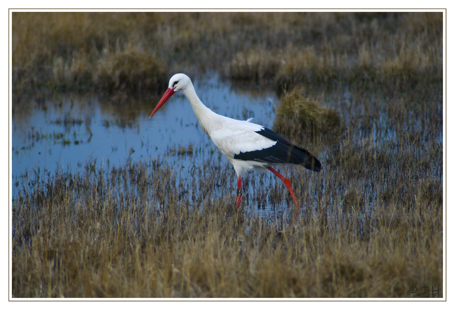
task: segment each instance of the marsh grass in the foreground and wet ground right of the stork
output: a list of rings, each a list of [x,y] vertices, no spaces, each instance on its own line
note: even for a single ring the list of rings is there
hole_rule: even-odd
[[[292,198],[267,174],[243,180],[237,213],[235,173],[207,147],[193,147],[185,169],[158,159],[24,178],[13,201],[13,295],[440,297],[409,291],[443,291],[442,100],[433,91],[438,99],[419,105],[327,94],[346,131],[303,144],[320,174],[281,170],[303,205],[292,224]],[[264,212],[283,201],[282,215]]]

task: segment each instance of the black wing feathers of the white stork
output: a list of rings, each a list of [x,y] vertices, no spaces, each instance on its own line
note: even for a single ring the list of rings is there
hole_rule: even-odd
[[[255,160],[271,164],[289,163],[302,165],[316,172],[321,171],[321,162],[314,155],[300,146],[293,145],[289,140],[278,135],[275,131],[264,127],[263,130],[256,131],[256,133],[270,140],[277,141],[277,143],[267,149],[236,154],[234,155],[234,159]]]

